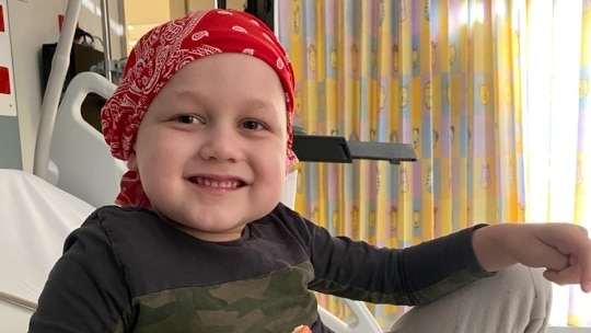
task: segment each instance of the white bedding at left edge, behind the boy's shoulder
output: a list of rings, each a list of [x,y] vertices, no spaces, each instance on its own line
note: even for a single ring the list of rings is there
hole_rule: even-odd
[[[0,298],[36,302],[63,240],[93,209],[31,173],[0,169]],[[31,313],[0,300],[0,332],[26,332]]]

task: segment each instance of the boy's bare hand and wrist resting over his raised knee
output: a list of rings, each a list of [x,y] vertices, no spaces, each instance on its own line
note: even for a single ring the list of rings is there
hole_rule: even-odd
[[[500,223],[474,231],[473,246],[480,266],[495,272],[517,263],[545,267],[544,277],[591,291],[591,240],[572,223]]]

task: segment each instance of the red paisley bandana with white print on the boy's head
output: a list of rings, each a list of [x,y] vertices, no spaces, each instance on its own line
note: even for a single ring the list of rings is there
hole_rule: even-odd
[[[294,85],[291,64],[265,23],[232,10],[197,11],[157,26],[138,41],[127,59],[120,84],[101,110],[103,135],[112,154],[124,161],[128,159],[150,103],[176,71],[190,61],[219,53],[257,57],[279,77],[286,93],[289,170],[297,162],[291,149]],[[115,203],[151,206],[136,172],[124,174]]]

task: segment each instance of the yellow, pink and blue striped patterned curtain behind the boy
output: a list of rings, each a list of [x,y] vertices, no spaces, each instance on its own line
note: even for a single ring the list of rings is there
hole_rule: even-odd
[[[510,2],[510,1],[507,1]],[[334,234],[408,246],[523,221],[519,15],[493,0],[277,1],[309,134],[412,143],[417,162],[299,163],[296,208]],[[338,299],[320,296],[347,319]],[[389,326],[404,307],[371,306]]]

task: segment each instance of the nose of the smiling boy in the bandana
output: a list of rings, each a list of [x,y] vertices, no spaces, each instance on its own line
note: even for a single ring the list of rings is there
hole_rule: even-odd
[[[241,139],[236,130],[209,128],[205,134],[199,154],[205,160],[237,161],[241,156]]]

